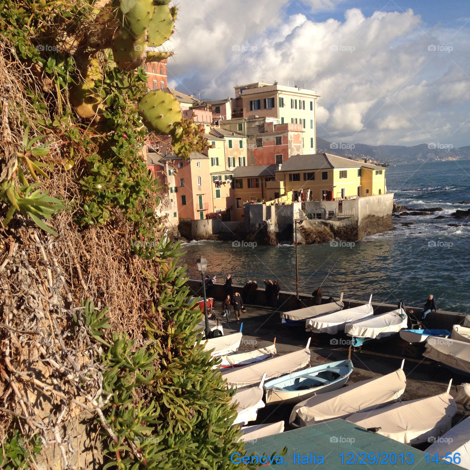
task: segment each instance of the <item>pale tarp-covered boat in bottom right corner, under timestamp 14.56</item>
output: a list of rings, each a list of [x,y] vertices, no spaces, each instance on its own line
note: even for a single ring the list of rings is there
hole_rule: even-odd
[[[460,453],[460,463],[456,465],[464,469],[470,469],[470,418],[458,423],[444,436],[440,438],[436,436],[433,440],[434,443],[426,449],[429,455],[438,454],[444,457],[447,452],[452,455],[458,452]]]

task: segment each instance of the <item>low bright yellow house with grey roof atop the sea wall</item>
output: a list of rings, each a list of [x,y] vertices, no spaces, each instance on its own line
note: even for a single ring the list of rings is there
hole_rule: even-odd
[[[385,194],[385,168],[329,153],[294,155],[276,171],[284,192],[294,200],[332,201]]]

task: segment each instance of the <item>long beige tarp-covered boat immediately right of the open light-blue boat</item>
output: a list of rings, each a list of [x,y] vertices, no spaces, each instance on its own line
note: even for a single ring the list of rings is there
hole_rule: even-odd
[[[356,382],[353,385],[322,393],[294,406],[289,423],[300,426],[346,419],[356,411],[367,411],[400,400],[406,387],[406,377],[399,369],[385,376]]]

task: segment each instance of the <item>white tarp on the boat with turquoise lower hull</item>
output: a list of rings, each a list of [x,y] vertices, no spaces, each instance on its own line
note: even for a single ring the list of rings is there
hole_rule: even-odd
[[[400,317],[404,315],[404,317]],[[398,333],[400,329],[406,328],[408,317],[403,308],[397,308],[391,312],[375,315],[370,318],[348,323],[344,332],[348,336],[356,338],[377,338]]]

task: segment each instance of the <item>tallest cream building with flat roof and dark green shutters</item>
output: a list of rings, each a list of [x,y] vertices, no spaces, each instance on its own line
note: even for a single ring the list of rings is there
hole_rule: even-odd
[[[235,87],[235,100],[242,101],[243,117],[278,118],[280,124],[301,124],[304,130],[303,153],[316,152],[315,90],[266,83]]]

